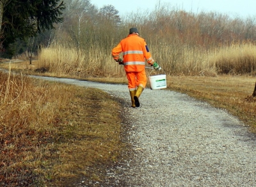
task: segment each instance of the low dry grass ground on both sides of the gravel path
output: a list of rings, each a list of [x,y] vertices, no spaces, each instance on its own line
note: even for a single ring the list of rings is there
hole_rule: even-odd
[[[24,74],[55,76],[36,73],[36,62],[2,63],[0,68],[19,72],[1,74],[0,184],[15,186],[22,181],[61,186],[80,176],[102,180],[99,166],[115,163],[127,147],[120,140],[120,104],[96,89],[28,79]],[[127,82],[125,77],[58,77]],[[256,104],[250,98],[255,80],[253,76],[167,76],[167,89],[225,108],[256,133]]]

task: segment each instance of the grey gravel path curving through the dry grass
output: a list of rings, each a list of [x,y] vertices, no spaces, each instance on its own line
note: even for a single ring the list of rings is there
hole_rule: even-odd
[[[141,107],[131,108],[126,85],[44,79],[124,99],[122,125],[132,158],[109,170],[98,186],[256,186],[256,137],[224,110],[186,94],[150,89],[143,91]]]

